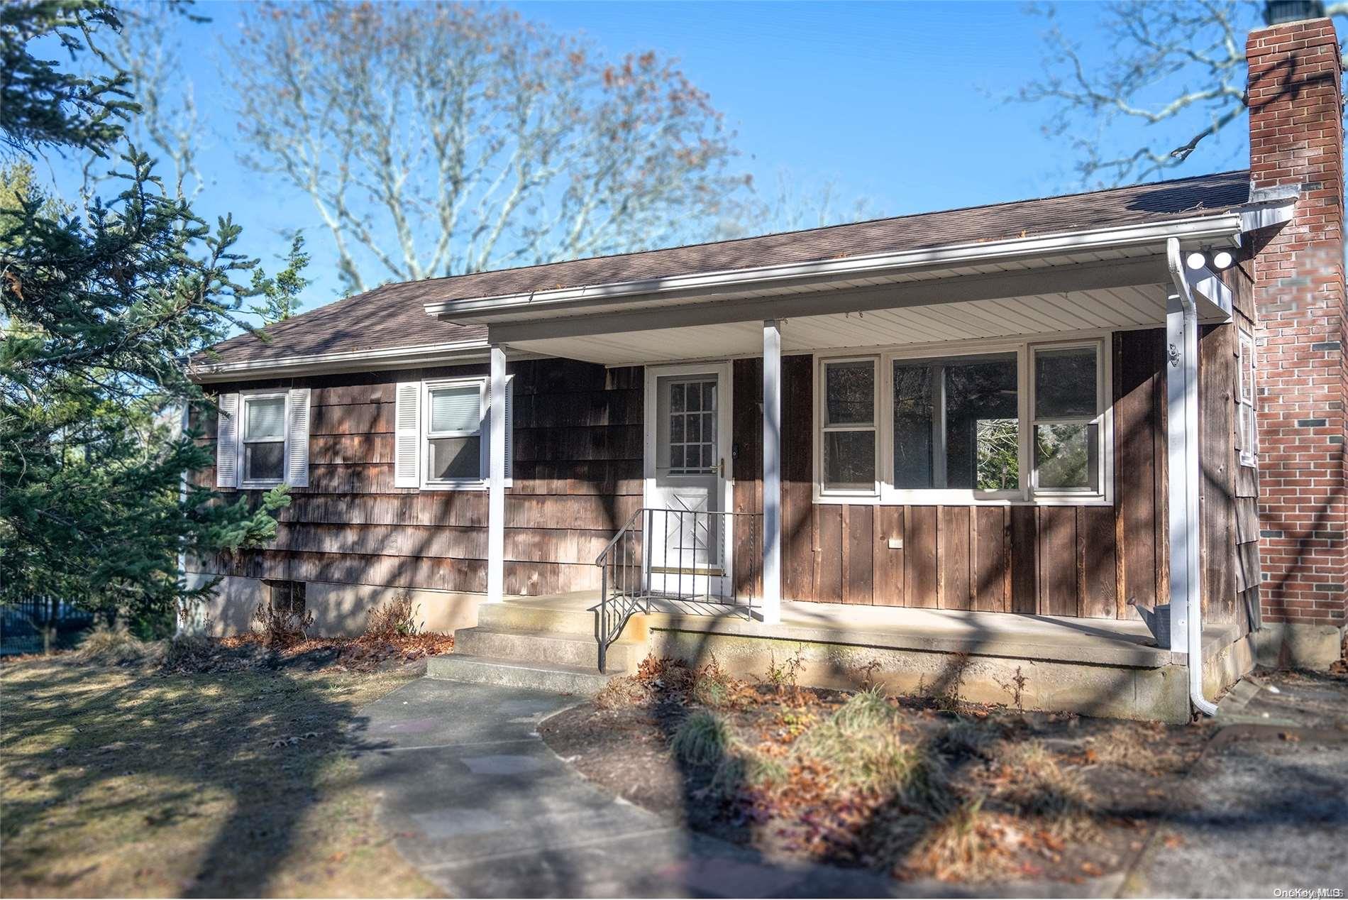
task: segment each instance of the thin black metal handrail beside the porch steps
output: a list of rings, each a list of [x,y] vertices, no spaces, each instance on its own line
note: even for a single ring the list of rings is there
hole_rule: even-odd
[[[654,567],[652,553],[655,551],[655,534],[669,534],[670,517],[675,517],[678,525],[678,546],[662,545],[663,546],[663,561],[669,561],[669,555],[675,553],[675,565],[669,567]],[[655,524],[656,517],[663,519],[663,530],[656,532]],[[692,517],[694,541],[692,545],[685,545],[683,536],[686,532],[687,518]],[[747,567],[739,567],[741,571],[749,573],[749,583],[756,580],[758,567],[762,563],[762,544],[760,544],[760,529],[758,528],[758,518],[762,513],[737,513],[732,510],[724,511],[696,511],[696,510],[674,510],[674,509],[661,509],[643,506],[635,510],[623,524],[604,549],[600,551],[599,556],[594,557],[594,564],[600,568],[600,602],[596,610],[596,640],[599,641],[599,671],[605,671],[605,663],[608,656],[608,648],[612,645],[623,633],[627,626],[628,619],[638,611],[643,610],[646,613],[651,609],[652,596],[659,596],[662,599],[693,599],[709,603],[733,603],[739,598],[739,584],[736,583],[736,573],[731,571],[727,565],[727,560],[721,560],[721,568],[713,569],[710,565],[698,568],[697,551],[698,544],[696,541],[696,533],[698,530],[698,519],[706,519],[706,533],[709,536],[716,534],[716,537],[709,537],[709,540],[702,542],[704,548],[714,546],[720,540],[727,536],[733,536],[733,530],[717,532],[717,529],[731,528],[728,524],[733,522],[736,517],[748,517],[754,526],[749,533],[749,551],[751,559]],[[720,519],[725,524],[713,525],[713,521]],[[692,552],[693,565],[685,567],[685,553]],[[651,578],[654,573],[662,576],[662,587],[659,591],[651,590]],[[673,576],[674,583],[670,586],[670,578]],[[685,576],[690,576],[689,587],[692,590],[685,591]],[[702,578],[702,590],[698,591],[698,578]],[[721,588],[717,592],[712,592],[713,578],[720,578]],[[725,586],[729,590],[725,590]]]

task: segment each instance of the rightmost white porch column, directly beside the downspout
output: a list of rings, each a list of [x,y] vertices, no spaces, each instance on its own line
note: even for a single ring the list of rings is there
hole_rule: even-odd
[[[1189,652],[1201,602],[1198,567],[1198,321],[1178,293],[1166,308],[1166,460],[1170,537],[1170,650]]]

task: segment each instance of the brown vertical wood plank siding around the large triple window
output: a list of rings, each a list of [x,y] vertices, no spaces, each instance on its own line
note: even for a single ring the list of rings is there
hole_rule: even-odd
[[[1227,336],[1231,331],[1209,329],[1202,345],[1209,387],[1201,395],[1204,596],[1209,618],[1221,622],[1229,621],[1236,606],[1235,528],[1229,525],[1229,498],[1236,487],[1229,440],[1233,381],[1219,349],[1219,343],[1224,348],[1233,340]],[[1111,352],[1112,506],[813,503],[813,364],[809,356],[783,358],[783,595],[825,603],[1088,618],[1134,618],[1130,599],[1163,603],[1165,331],[1115,333]],[[739,511],[762,510],[756,437],[762,428],[760,372],[760,360],[735,362]],[[740,522],[739,528],[748,525]],[[1247,522],[1247,530],[1251,528]],[[891,538],[899,545],[891,548]],[[737,534],[737,546],[747,541],[747,533]]]

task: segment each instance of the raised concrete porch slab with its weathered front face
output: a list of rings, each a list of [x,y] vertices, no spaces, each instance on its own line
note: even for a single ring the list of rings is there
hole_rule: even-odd
[[[593,617],[596,592],[514,598],[496,607],[546,629]],[[623,640],[693,667],[712,658],[744,679],[856,690],[883,684],[906,695],[957,698],[1014,708],[1185,722],[1190,715],[1185,654],[1157,648],[1142,622],[830,603],[782,603],[766,625],[749,606],[651,599]],[[592,619],[590,619],[592,621]],[[1204,629],[1209,698],[1252,667],[1233,626]]]

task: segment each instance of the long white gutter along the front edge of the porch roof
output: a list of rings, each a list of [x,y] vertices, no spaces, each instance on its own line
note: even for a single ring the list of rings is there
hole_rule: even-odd
[[[632,297],[659,300],[675,293],[696,293],[698,290],[725,289],[728,286],[751,289],[770,286],[772,282],[860,278],[914,269],[973,266],[1016,258],[1051,256],[1091,250],[1135,247],[1139,244],[1162,244],[1167,237],[1180,237],[1185,242],[1227,240],[1235,247],[1240,242],[1240,215],[1237,212],[1227,212],[1216,216],[1181,219],[1163,224],[1151,223],[1093,231],[1073,231],[1037,237],[952,244],[948,247],[911,250],[896,254],[872,254],[809,263],[694,273],[674,278],[562,287],[523,294],[500,294],[496,297],[437,300],[425,304],[425,308],[427,314],[453,322],[481,324],[496,316],[524,310],[542,310],[543,308],[603,304],[605,301]]]

